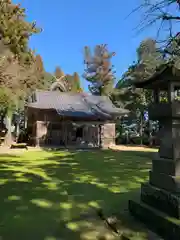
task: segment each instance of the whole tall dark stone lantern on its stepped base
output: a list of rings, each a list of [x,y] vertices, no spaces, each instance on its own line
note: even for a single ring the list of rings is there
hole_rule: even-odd
[[[159,120],[161,140],[149,182],[141,186],[140,201],[129,201],[129,210],[165,239],[180,239],[180,102],[176,99],[180,74],[172,64],[162,65],[135,86],[153,92],[149,118]],[[167,96],[164,102],[160,101],[162,91]]]

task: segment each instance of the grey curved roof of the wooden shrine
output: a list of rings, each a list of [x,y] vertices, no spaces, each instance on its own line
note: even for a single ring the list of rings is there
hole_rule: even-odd
[[[36,91],[30,108],[54,109],[61,116],[114,118],[128,113],[128,110],[116,108],[105,96],[84,93],[62,93],[59,91]]]

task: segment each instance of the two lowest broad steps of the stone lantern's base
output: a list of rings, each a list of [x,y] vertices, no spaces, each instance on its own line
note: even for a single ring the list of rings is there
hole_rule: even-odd
[[[143,183],[140,201],[130,200],[129,211],[163,238],[180,239],[180,195]]]

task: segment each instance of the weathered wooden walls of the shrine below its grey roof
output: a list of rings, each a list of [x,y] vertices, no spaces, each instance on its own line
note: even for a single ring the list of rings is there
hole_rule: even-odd
[[[35,145],[108,148],[115,142],[115,124],[103,121],[75,121],[60,117],[54,110],[29,109],[28,127],[32,128]],[[76,139],[73,122],[83,127],[82,139]]]

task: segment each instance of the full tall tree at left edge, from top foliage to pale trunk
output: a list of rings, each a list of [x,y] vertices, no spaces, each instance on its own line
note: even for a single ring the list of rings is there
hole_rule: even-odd
[[[20,5],[15,5],[10,0],[0,2],[0,45],[3,49],[0,53],[0,99],[4,101],[7,113],[7,139],[11,139],[13,109],[25,95],[23,90],[27,87],[27,79],[31,75],[29,70],[34,61],[28,40],[39,30],[35,22],[26,21],[25,9]]]

